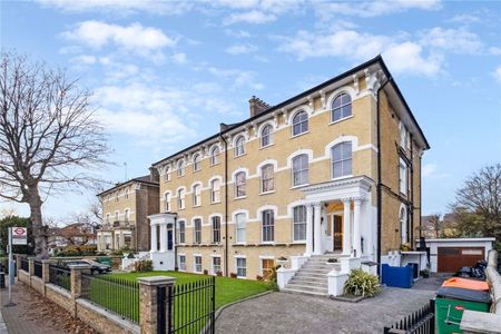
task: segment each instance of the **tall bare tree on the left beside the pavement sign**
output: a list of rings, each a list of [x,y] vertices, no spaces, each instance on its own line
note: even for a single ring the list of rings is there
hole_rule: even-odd
[[[90,92],[62,70],[2,53],[0,63],[0,197],[27,203],[35,253],[47,255],[41,207],[53,191],[87,187],[106,164],[101,125]]]

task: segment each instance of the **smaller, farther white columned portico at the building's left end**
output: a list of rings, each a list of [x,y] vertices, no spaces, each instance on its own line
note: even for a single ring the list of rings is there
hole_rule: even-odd
[[[176,214],[148,216],[150,220],[150,259],[155,271],[174,271],[176,267]]]

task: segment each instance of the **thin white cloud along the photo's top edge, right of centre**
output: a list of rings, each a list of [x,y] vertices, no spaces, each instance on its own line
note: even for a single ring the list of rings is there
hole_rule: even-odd
[[[316,13],[324,20],[337,14],[372,18],[383,14],[403,12],[411,9],[434,10],[440,8],[439,0],[379,0],[362,2],[321,2],[315,7]]]

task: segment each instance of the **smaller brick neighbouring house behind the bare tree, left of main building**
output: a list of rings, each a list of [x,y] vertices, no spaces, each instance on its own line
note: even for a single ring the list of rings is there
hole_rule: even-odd
[[[149,250],[148,215],[159,212],[158,174],[132,178],[97,195],[102,223],[97,232],[98,252]]]

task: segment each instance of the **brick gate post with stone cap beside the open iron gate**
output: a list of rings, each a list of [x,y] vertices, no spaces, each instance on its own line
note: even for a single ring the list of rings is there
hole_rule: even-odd
[[[166,291],[174,286],[175,277],[140,277],[139,282],[139,326],[141,334],[168,333],[166,318]]]

